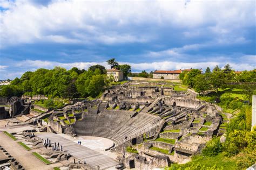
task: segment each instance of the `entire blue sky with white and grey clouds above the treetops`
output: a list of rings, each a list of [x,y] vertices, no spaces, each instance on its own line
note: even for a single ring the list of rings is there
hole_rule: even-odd
[[[0,0],[0,80],[116,58],[133,72],[256,68],[256,1]]]

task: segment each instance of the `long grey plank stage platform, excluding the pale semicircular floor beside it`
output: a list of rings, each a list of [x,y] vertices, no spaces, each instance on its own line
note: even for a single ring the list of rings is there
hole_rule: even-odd
[[[64,138],[55,133],[36,133],[41,139],[49,138],[51,143],[59,143],[63,146],[63,150],[73,155],[81,161],[85,161],[92,167],[99,166],[100,169],[111,168],[118,165],[118,162],[106,155],[99,153],[95,150],[91,150],[83,145],[78,145],[74,141]]]

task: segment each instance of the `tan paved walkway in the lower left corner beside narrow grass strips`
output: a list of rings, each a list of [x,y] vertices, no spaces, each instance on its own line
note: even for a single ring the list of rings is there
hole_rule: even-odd
[[[3,146],[4,149],[9,152],[25,169],[46,170],[52,169],[52,167],[60,164],[45,165],[41,160],[32,155],[32,152],[35,152],[35,150],[26,151],[17,143],[17,141],[12,140],[1,131],[0,145]]]

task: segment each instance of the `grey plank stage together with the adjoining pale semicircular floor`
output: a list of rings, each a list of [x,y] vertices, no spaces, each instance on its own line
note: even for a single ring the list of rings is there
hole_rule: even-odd
[[[99,166],[100,169],[111,168],[118,165],[118,162],[110,156],[100,153],[105,148],[112,146],[113,142],[109,139],[99,137],[77,137],[72,138],[65,134],[55,133],[36,133],[41,139],[49,138],[51,143],[59,143],[63,146],[63,150],[73,155],[80,161],[85,161],[86,164],[92,167]],[[82,141],[82,145],[78,145],[78,140]],[[105,151],[104,151],[105,152]]]

